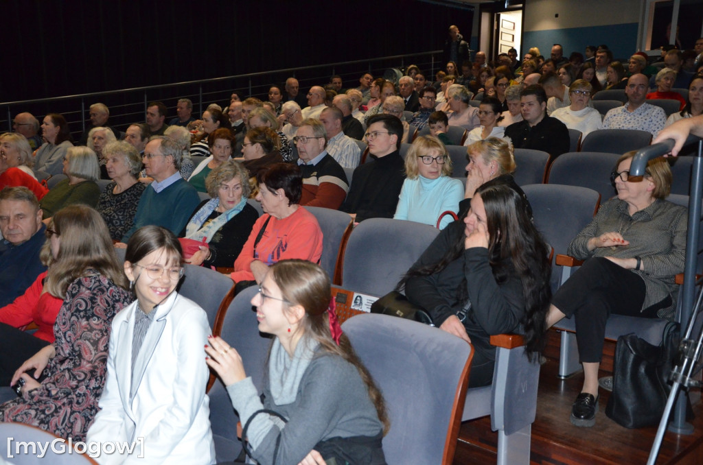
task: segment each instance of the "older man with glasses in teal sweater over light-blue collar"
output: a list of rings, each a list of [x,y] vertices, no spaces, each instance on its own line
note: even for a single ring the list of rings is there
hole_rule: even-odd
[[[154,179],[141,198],[134,223],[118,247],[146,225],[163,226],[181,232],[191,212],[200,203],[198,191],[181,178],[181,148],[168,137],[155,137],[146,144],[142,158],[147,176]]]

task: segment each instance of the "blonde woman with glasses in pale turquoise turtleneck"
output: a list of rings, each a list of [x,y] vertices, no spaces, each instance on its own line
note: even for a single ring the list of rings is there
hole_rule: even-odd
[[[435,226],[445,211],[458,213],[463,186],[461,181],[451,178],[451,158],[438,138],[415,139],[405,157],[405,173],[394,219]],[[451,221],[451,215],[444,216],[439,229]]]

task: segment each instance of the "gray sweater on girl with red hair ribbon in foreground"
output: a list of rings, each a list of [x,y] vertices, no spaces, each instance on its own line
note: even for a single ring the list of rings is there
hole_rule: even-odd
[[[271,363],[276,357],[276,344],[280,348],[280,343],[276,341],[269,360],[269,379],[266,379],[263,405],[250,377],[227,388],[242,425],[262,408],[278,412],[288,419],[288,423],[283,424],[269,414],[258,414],[252,420],[247,438],[253,450],[252,457],[259,464],[274,463],[273,452],[279,435],[276,464],[297,464],[321,440],[380,433],[382,425],[378,414],[368,397],[366,384],[354,365],[337,355],[323,353],[319,348],[314,348],[312,360],[300,360],[305,358],[304,343],[300,341],[295,356],[292,359],[286,357],[286,366],[279,371],[276,364]],[[290,371],[296,369],[302,371],[302,376]],[[283,405],[276,404],[274,397],[280,396],[271,393],[271,379],[276,379],[276,376],[297,379],[297,386],[290,386],[295,389],[295,400]]]

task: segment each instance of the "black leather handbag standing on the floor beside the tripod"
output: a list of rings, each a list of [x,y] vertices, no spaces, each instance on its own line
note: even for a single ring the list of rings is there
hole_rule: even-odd
[[[636,334],[617,339],[613,391],[605,414],[626,428],[656,426],[664,414],[671,385],[669,374],[678,348],[678,323],[664,327],[662,343],[654,346]]]

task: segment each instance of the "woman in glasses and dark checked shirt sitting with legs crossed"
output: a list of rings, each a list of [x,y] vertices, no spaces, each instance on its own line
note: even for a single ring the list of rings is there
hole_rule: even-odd
[[[674,276],[683,273],[688,214],[665,200],[669,163],[650,160],[644,178],[635,182],[628,178],[634,155],[622,155],[612,173],[617,198],[605,202],[569,244],[567,253],[586,261],[556,292],[547,316],[546,328],[567,315],[576,319],[583,388],[572,407],[575,426],[595,424],[607,317],[672,318]]]

